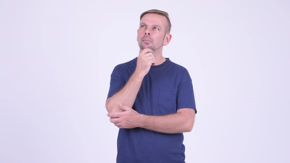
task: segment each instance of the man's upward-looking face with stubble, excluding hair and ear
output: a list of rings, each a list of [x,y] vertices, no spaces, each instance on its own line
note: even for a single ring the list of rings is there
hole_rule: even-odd
[[[168,22],[165,16],[155,13],[145,14],[138,28],[137,41],[143,50],[150,48],[155,51],[163,47],[164,38],[168,31]]]

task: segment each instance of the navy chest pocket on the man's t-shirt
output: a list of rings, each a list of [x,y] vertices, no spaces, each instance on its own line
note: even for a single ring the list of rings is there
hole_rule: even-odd
[[[176,112],[176,94],[177,90],[174,89],[159,89],[158,106],[160,109],[165,109],[166,113]],[[161,112],[164,112],[161,111]],[[164,112],[164,113],[165,113]]]

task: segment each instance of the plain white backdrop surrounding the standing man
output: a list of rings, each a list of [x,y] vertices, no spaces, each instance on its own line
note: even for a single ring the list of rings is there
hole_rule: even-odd
[[[116,162],[110,75],[148,9],[193,80],[186,162],[290,163],[289,0],[0,0],[0,163]]]

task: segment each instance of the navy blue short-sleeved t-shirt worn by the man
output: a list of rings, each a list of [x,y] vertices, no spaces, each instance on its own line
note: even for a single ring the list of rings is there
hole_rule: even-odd
[[[117,65],[111,75],[108,98],[119,91],[135,71],[137,57]],[[132,107],[146,115],[166,115],[195,109],[188,71],[169,58],[151,66]],[[117,163],[185,163],[183,134],[163,134],[143,128],[119,129]]]

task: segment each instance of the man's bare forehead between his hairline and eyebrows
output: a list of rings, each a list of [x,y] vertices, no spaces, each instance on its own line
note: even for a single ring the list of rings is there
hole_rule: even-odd
[[[142,24],[142,23],[147,24],[147,25],[166,26],[167,19],[163,15],[159,15],[159,14],[155,14],[155,13],[147,13],[140,20],[140,24]]]

